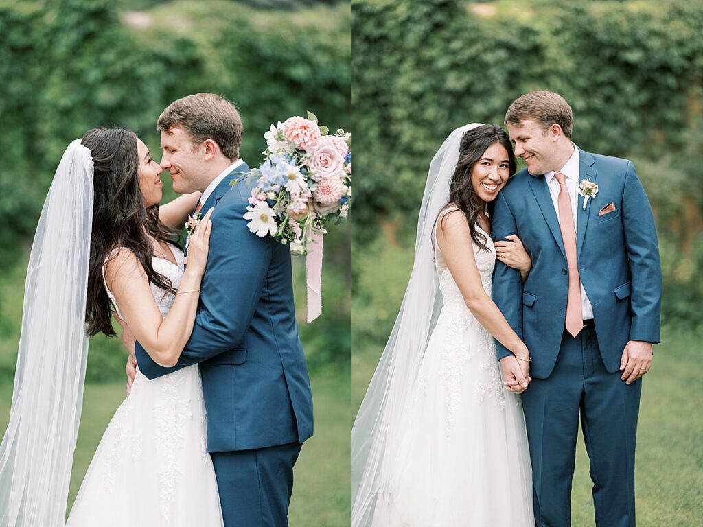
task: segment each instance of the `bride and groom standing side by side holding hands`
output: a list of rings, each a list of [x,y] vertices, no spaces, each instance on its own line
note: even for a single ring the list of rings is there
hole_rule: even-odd
[[[595,523],[636,524],[662,287],[652,210],[631,162],[572,143],[557,93],[518,98],[505,124],[456,129],[430,164],[352,432],[354,527],[567,527],[579,418]]]

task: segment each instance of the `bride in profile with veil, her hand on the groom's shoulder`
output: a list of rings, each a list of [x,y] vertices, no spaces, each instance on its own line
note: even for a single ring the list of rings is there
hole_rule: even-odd
[[[193,327],[209,214],[190,261],[170,241],[199,195],[158,207],[160,166],[134,132],[97,128],[66,149],[27,268],[10,422],[0,445],[0,526],[64,525],[88,336],[114,308],[153,359],[178,360]],[[138,375],[105,431],[66,523],[222,525],[198,366]]]

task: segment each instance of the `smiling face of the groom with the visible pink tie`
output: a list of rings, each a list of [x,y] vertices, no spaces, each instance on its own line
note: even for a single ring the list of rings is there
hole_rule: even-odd
[[[544,129],[542,124],[524,119],[520,124],[508,123],[508,133],[515,145],[515,155],[522,157],[530,174],[536,176],[560,168],[553,167],[557,138],[551,129]]]

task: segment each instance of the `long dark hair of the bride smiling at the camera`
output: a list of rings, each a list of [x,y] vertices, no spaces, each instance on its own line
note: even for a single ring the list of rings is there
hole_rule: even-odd
[[[486,242],[488,239],[483,233],[476,230],[476,221],[479,214],[483,214],[486,204],[479,199],[471,183],[471,173],[474,165],[484,155],[489,146],[501,143],[508,152],[508,163],[510,164],[510,176],[515,174],[515,155],[512,153],[510,138],[505,131],[497,124],[482,124],[467,131],[461,138],[459,145],[459,160],[456,163],[454,175],[449,186],[449,203],[447,207],[456,206],[466,216],[469,223],[471,239],[482,249],[488,250]],[[442,210],[444,210],[442,209]],[[492,209],[489,204],[489,210]],[[492,212],[492,210],[491,210]],[[442,221],[446,215],[442,218]]]

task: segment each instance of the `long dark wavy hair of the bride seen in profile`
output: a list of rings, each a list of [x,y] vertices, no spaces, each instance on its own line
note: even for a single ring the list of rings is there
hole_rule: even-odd
[[[93,229],[88,268],[86,333],[115,336],[112,306],[103,283],[103,264],[114,247],[134,252],[150,283],[173,290],[171,281],[154,271],[153,247],[147,237],[173,243],[178,231],[159,220],[159,207],[144,205],[139,188],[136,134],[121,128],[93,128],[81,144],[93,157]]]

